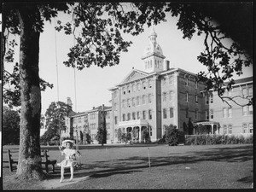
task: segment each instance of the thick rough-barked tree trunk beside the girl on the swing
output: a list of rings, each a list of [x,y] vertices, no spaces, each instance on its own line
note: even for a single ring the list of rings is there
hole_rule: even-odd
[[[20,151],[16,178],[42,179],[40,164],[41,91],[39,87],[39,10],[20,5]]]

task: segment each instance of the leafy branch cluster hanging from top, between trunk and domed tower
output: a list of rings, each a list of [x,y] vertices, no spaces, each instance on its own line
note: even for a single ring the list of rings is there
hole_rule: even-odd
[[[133,6],[130,9],[126,5],[127,3],[79,3],[73,7],[72,23],[62,24],[58,20],[56,30],[73,34],[76,39],[76,44],[68,53],[68,61],[64,61],[64,64],[79,70],[92,64],[98,67],[117,65],[120,52],[127,52],[131,45],[131,41],[122,38],[121,32],[138,35],[143,32],[146,21],[151,25],[151,20],[155,23],[164,20],[163,13],[154,14],[159,7],[157,3],[149,3],[147,8],[143,3],[137,3],[137,8]],[[143,15],[141,9],[147,9],[151,15]],[[81,29],[81,32],[75,32],[77,29]]]

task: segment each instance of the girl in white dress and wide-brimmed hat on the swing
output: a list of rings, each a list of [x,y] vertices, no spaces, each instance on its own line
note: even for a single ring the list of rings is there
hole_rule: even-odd
[[[64,168],[70,167],[70,181],[73,181],[73,167],[78,164],[77,158],[81,156],[79,151],[73,148],[74,142],[72,140],[65,140],[60,146],[61,155],[65,154],[65,160],[62,160],[61,163],[57,163],[58,166],[61,166],[61,180],[60,183],[64,180]]]

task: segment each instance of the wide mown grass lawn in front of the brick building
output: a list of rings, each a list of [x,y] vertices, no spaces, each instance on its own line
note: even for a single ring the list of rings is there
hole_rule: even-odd
[[[49,159],[61,161],[57,148],[48,148]],[[6,149],[3,146],[3,159]],[[49,172],[47,181],[17,182],[15,172],[3,164],[3,189],[250,189],[253,183],[252,144],[87,145],[79,151],[82,167],[74,172],[77,182],[58,183],[59,167]],[[65,179],[69,177],[67,169]]]

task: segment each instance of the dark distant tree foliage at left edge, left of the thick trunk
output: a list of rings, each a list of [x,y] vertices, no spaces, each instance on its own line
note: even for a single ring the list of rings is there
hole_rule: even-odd
[[[20,114],[3,107],[3,145],[20,143]]]

